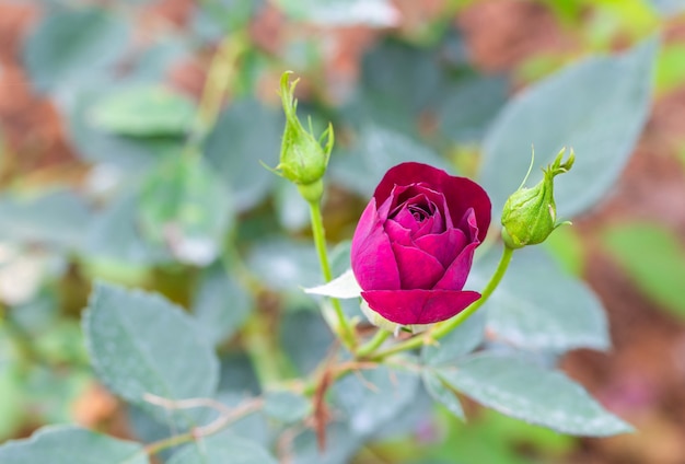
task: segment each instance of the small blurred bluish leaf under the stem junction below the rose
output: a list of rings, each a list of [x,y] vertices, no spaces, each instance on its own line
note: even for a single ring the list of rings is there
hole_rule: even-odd
[[[344,378],[333,392],[352,433],[365,437],[403,414],[415,398],[418,380],[414,373],[380,366]]]

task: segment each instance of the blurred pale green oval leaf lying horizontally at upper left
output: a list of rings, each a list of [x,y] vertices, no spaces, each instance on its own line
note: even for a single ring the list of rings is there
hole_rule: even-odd
[[[160,85],[114,90],[91,108],[93,126],[123,136],[182,135],[190,129],[195,104]]]

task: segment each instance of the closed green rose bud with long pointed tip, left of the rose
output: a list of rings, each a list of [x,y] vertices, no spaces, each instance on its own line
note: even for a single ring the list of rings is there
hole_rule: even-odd
[[[286,130],[280,150],[280,162],[275,172],[298,185],[300,194],[307,201],[317,201],[323,194],[322,178],[326,173],[330,150],[333,149],[333,127],[328,128],[316,140],[312,135],[312,121],[310,131],[304,130],[298,119],[295,109],[298,102],[293,92],[298,80],[289,84],[292,71],[286,71],[280,80],[280,96],[286,113]],[[324,139],[326,144],[323,146]]]

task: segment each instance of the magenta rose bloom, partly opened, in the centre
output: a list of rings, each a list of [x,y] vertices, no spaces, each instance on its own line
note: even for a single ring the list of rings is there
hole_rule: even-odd
[[[463,288],[490,208],[465,177],[421,163],[392,167],[352,237],[352,271],[369,309],[400,325],[432,324],[478,300]]]

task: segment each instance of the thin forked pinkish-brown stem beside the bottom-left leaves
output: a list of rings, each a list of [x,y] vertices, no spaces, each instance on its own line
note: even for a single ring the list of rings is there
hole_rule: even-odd
[[[144,451],[148,455],[153,455],[170,448],[195,441],[198,438],[209,437],[213,433],[217,433],[225,428],[229,424],[234,422],[237,419],[260,409],[264,405],[264,401],[262,398],[251,398],[248,402],[245,402],[241,406],[233,409],[211,398],[190,398],[173,401],[149,393],[147,393],[143,398],[149,403],[165,407],[167,409],[190,409],[197,407],[209,407],[219,411],[219,417],[217,417],[214,420],[207,424],[206,426],[196,427],[186,433],[169,437],[163,440],[159,440],[148,444],[144,448]]]

